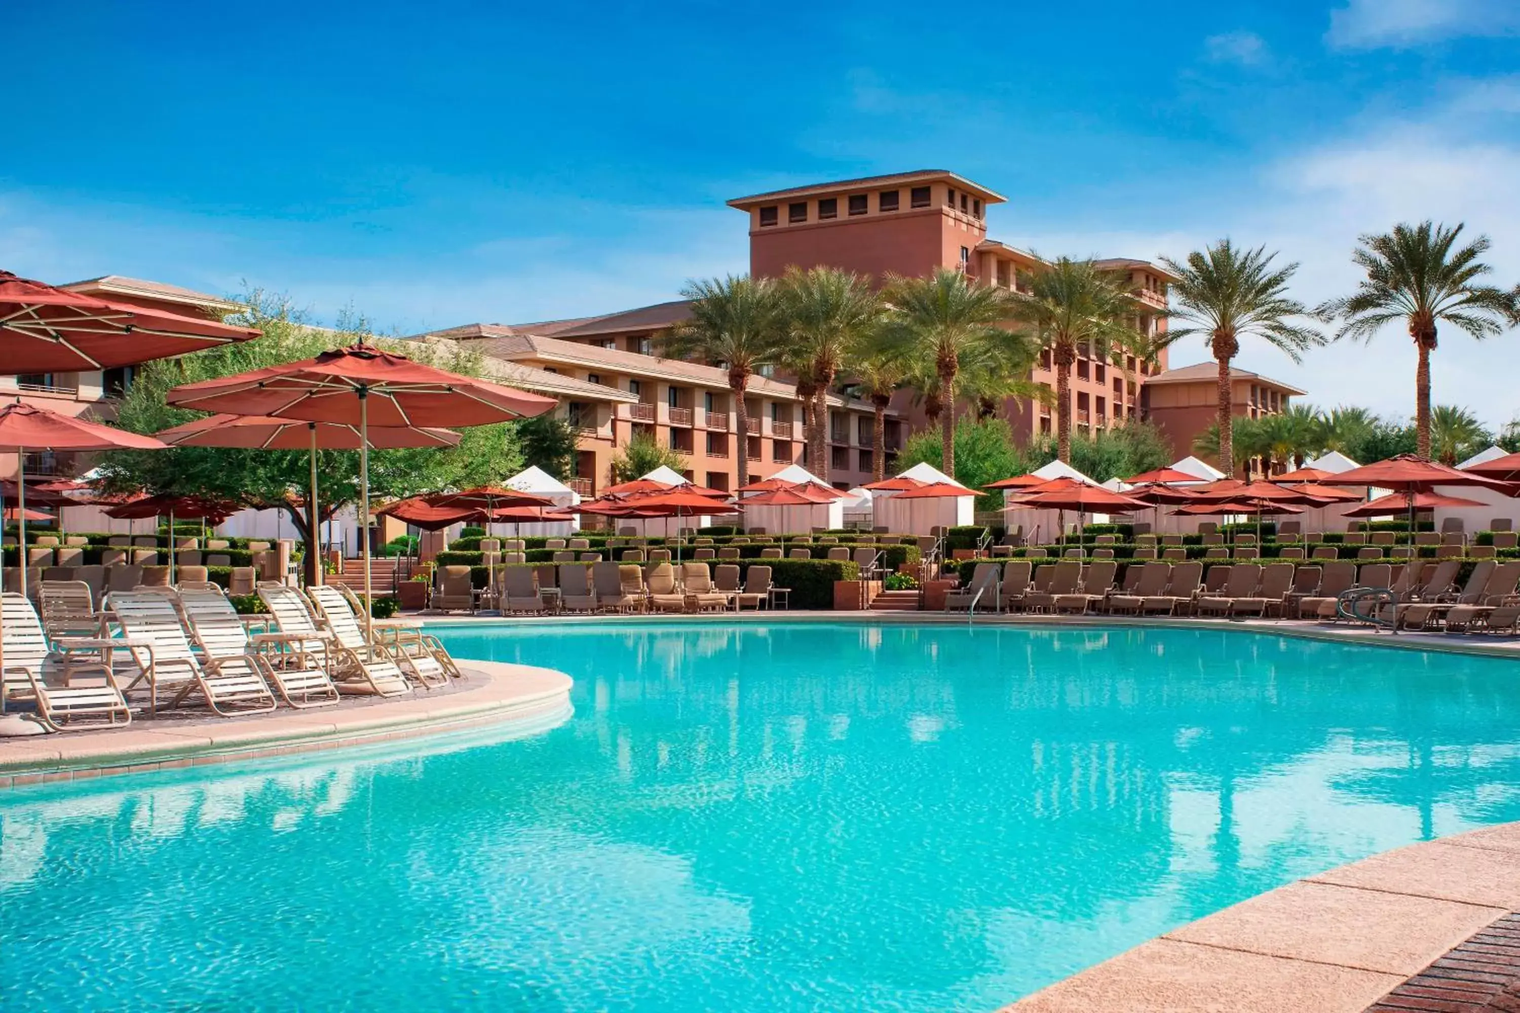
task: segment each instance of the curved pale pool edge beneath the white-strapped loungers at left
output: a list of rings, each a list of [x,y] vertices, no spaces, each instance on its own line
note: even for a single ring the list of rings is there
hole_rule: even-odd
[[[239,759],[286,756],[570,714],[570,676],[552,668],[461,661],[480,685],[353,709],[281,711],[195,724],[81,729],[0,738],[0,790]]]

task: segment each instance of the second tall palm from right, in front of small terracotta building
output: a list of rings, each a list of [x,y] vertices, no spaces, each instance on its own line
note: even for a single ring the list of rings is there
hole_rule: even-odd
[[[1186,264],[1161,258],[1176,275],[1172,282],[1172,295],[1181,307],[1176,316],[1192,322],[1192,327],[1167,330],[1161,340],[1172,345],[1193,334],[1208,340],[1219,363],[1219,466],[1230,474],[1234,474],[1230,361],[1240,352],[1240,339],[1260,337],[1295,363],[1304,351],[1325,343],[1319,331],[1292,322],[1307,313],[1301,302],[1287,298],[1287,279],[1298,264],[1274,269],[1275,257],[1265,246],[1239,249],[1225,238],[1207,251],[1193,251]]]

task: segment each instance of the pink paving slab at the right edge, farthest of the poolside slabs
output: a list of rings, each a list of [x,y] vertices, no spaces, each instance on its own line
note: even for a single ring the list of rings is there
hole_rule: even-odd
[[[1520,854],[1430,841],[1341,866],[1312,882],[1520,910]]]

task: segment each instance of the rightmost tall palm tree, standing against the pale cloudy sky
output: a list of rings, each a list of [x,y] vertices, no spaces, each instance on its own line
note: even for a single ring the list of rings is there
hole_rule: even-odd
[[[1450,323],[1482,340],[1515,322],[1515,293],[1476,284],[1493,269],[1479,257],[1488,252],[1488,237],[1456,248],[1456,228],[1400,223],[1386,235],[1363,235],[1351,254],[1366,272],[1356,292],[1324,302],[1318,313],[1339,317],[1336,340],[1366,342],[1385,323],[1404,320],[1415,343],[1415,448],[1430,456],[1430,352],[1436,348],[1436,325]]]

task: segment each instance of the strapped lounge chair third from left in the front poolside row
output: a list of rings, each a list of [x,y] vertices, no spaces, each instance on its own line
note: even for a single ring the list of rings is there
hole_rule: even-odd
[[[220,589],[181,589],[179,611],[190,638],[207,658],[242,658],[258,653],[266,662],[264,674],[286,703],[296,709],[337,703],[337,686],[327,677],[325,644],[313,653],[299,639],[281,633],[249,636],[243,618]],[[289,645],[289,650],[281,650]]]

